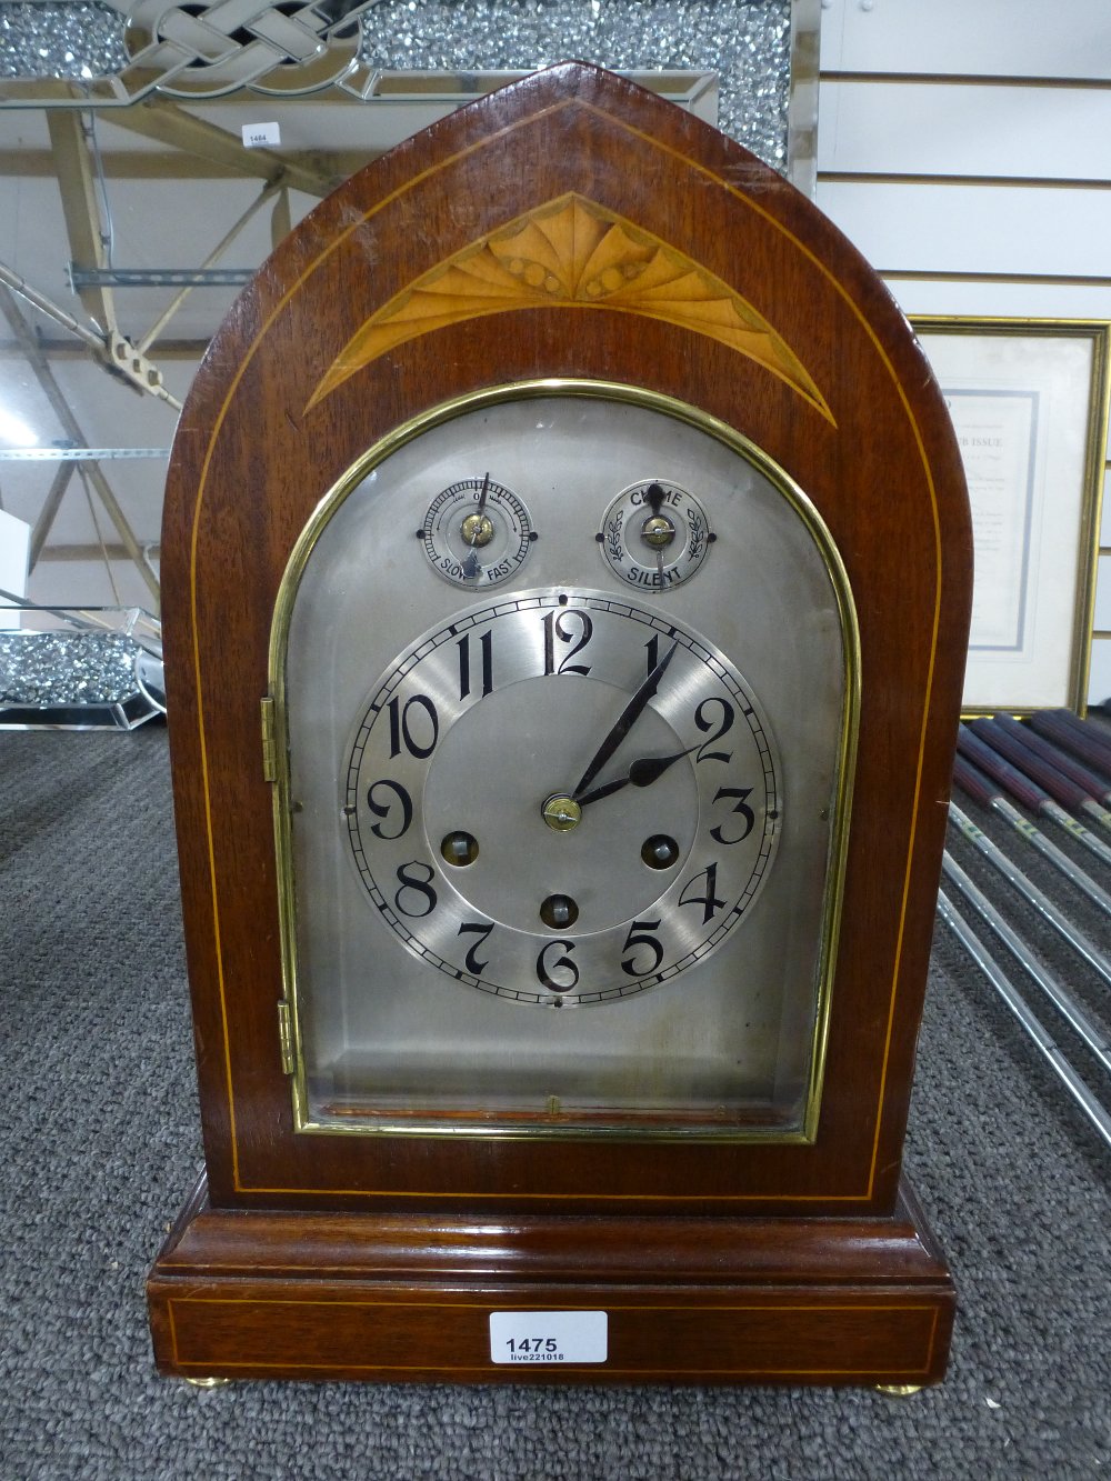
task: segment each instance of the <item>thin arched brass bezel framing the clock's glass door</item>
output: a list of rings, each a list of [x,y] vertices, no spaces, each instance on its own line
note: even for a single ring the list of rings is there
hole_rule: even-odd
[[[290,770],[289,770],[289,724],[286,702],[286,650],[289,628],[293,615],[296,594],[305,566],[316,548],[320,535],[335,515],[347,496],[363,481],[363,478],[379,464],[385,462],[394,452],[413,441],[422,432],[443,422],[453,421],[467,412],[473,412],[501,401],[526,400],[545,395],[584,397],[595,400],[612,400],[633,406],[646,407],[652,412],[671,416],[684,422],[717,441],[723,443],[738,456],[757,468],[788,501],[797,517],[803,521],[810,539],[818,546],[822,561],[830,575],[830,582],[837,601],[841,631],[843,652],[843,705],[840,733],[837,738],[835,803],[833,826],[830,829],[830,849],[827,855],[825,892],[822,900],[822,939],[818,951],[816,980],[818,1003],[810,1047],[810,1074],[806,1091],[806,1105],[801,1124],[797,1129],[781,1130],[776,1127],[729,1127],[714,1129],[699,1126],[696,1129],[675,1124],[644,1124],[630,1127],[628,1120],[621,1126],[613,1124],[551,1124],[551,1123],[514,1123],[502,1126],[476,1126],[473,1121],[452,1123],[444,1118],[419,1123],[412,1118],[398,1121],[388,1117],[376,1117],[373,1121],[336,1126],[335,1123],[313,1121],[308,1115],[308,1089],[305,1081],[305,1063],[301,1050],[301,1017],[298,1004],[298,973],[295,951],[295,918],[296,895],[293,881],[293,852],[290,837]],[[721,422],[718,418],[680,401],[675,397],[641,387],[625,385],[612,381],[588,379],[536,379],[518,381],[505,385],[486,387],[461,397],[453,397],[427,412],[401,422],[385,437],[360,455],[351,467],[332,484],[320,499],[304,530],[298,536],[290,552],[286,569],[278,584],[277,600],[274,603],[274,618],[270,634],[268,681],[273,699],[274,718],[274,843],[278,881],[278,929],[281,937],[281,976],[283,998],[281,1013],[289,1023],[289,1047],[292,1057],[292,1099],[293,1099],[293,1129],[298,1133],[313,1133],[326,1136],[418,1136],[418,1137],[473,1137],[477,1140],[504,1137],[544,1137],[556,1140],[606,1139],[606,1140],[635,1140],[635,1142],[775,1142],[775,1143],[813,1143],[818,1134],[818,1120],[821,1112],[822,1084],[825,1077],[827,1041],[830,1031],[830,1009],[833,994],[833,972],[837,960],[837,940],[840,933],[841,897],[844,881],[844,859],[849,843],[849,819],[852,813],[853,778],[856,766],[856,743],[859,733],[861,709],[861,643],[849,576],[834,544],[833,535],[821,514],[791,478],[763,449],[747,438],[742,432]]]

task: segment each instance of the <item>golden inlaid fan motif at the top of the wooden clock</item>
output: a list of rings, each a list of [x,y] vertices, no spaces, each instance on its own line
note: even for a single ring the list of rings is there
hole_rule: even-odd
[[[751,304],[683,252],[569,191],[416,278],[351,338],[308,403],[421,335],[486,314],[607,308],[708,335],[787,381],[825,418],[806,369]]]

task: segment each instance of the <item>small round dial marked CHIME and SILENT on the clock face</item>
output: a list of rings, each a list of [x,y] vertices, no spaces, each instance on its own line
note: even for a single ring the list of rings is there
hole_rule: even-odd
[[[715,539],[693,493],[667,478],[624,489],[595,536],[606,564],[630,586],[667,591],[689,581]]]

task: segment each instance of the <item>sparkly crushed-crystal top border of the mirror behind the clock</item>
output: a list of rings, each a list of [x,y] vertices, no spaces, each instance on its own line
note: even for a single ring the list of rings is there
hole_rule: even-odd
[[[197,12],[169,0],[0,3],[0,107],[126,107],[154,92],[203,104],[249,89],[270,102],[370,104],[390,148],[576,56],[701,99],[702,117],[715,78],[708,121],[813,195],[821,0],[316,0],[295,15],[261,4],[249,25],[228,0]]]

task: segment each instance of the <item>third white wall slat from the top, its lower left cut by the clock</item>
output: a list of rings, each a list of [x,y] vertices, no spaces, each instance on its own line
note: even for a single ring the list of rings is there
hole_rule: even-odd
[[[819,181],[818,204],[881,273],[1111,278],[1111,191]]]

